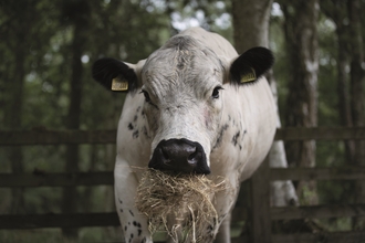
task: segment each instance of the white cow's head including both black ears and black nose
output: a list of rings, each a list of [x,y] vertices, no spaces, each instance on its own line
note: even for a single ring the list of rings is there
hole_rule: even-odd
[[[136,65],[96,61],[93,77],[108,89],[145,96],[143,109],[154,151],[150,168],[209,173],[225,85],[254,83],[272,64],[264,47],[228,62],[192,38],[175,36]]]

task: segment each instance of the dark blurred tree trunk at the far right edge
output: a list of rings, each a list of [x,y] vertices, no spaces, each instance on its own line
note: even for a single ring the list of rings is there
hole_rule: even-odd
[[[348,18],[351,34],[351,107],[354,126],[364,126],[365,119],[365,72],[364,63],[364,45],[361,22],[361,7],[364,4],[358,0],[348,0]],[[358,167],[365,166],[365,142],[363,140],[355,141],[354,165]],[[355,203],[365,203],[365,180],[358,180],[355,184]],[[356,230],[365,229],[365,219],[356,218],[354,221]]]

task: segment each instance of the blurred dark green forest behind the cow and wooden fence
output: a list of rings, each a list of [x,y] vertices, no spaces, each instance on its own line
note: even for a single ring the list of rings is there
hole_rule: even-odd
[[[282,126],[364,126],[364,0],[0,0],[0,129],[115,129],[124,95],[92,81],[94,61],[136,63],[192,25],[220,33],[242,53],[234,43],[244,39],[238,36],[239,21],[263,11],[258,2],[270,10],[268,45],[277,60],[270,75]],[[285,149],[292,167],[365,161],[364,142],[357,141],[286,142]],[[111,171],[114,158],[113,145],[1,147],[0,173]],[[302,205],[365,199],[364,182],[295,187]],[[0,189],[0,194],[1,214],[114,211],[111,187]],[[364,229],[352,219],[324,225]],[[24,232],[0,231],[0,241],[62,239],[60,230]],[[119,237],[111,229],[63,233],[91,242]]]

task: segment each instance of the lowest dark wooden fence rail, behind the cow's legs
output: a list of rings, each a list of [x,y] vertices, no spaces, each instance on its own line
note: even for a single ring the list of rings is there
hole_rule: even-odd
[[[237,207],[240,221],[248,220],[248,209]],[[271,220],[330,219],[343,216],[365,216],[365,204],[351,205],[312,205],[271,208]],[[232,223],[237,223],[238,219]],[[39,229],[39,228],[83,228],[83,226],[117,226],[116,212],[102,213],[48,213],[24,215],[0,215],[0,229]],[[364,232],[365,233],[365,232]]]

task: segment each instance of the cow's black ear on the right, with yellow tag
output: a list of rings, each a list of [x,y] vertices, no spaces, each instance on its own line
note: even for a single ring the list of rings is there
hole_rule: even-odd
[[[270,50],[253,47],[241,54],[230,67],[231,81],[237,84],[252,83],[263,75],[274,63]]]

